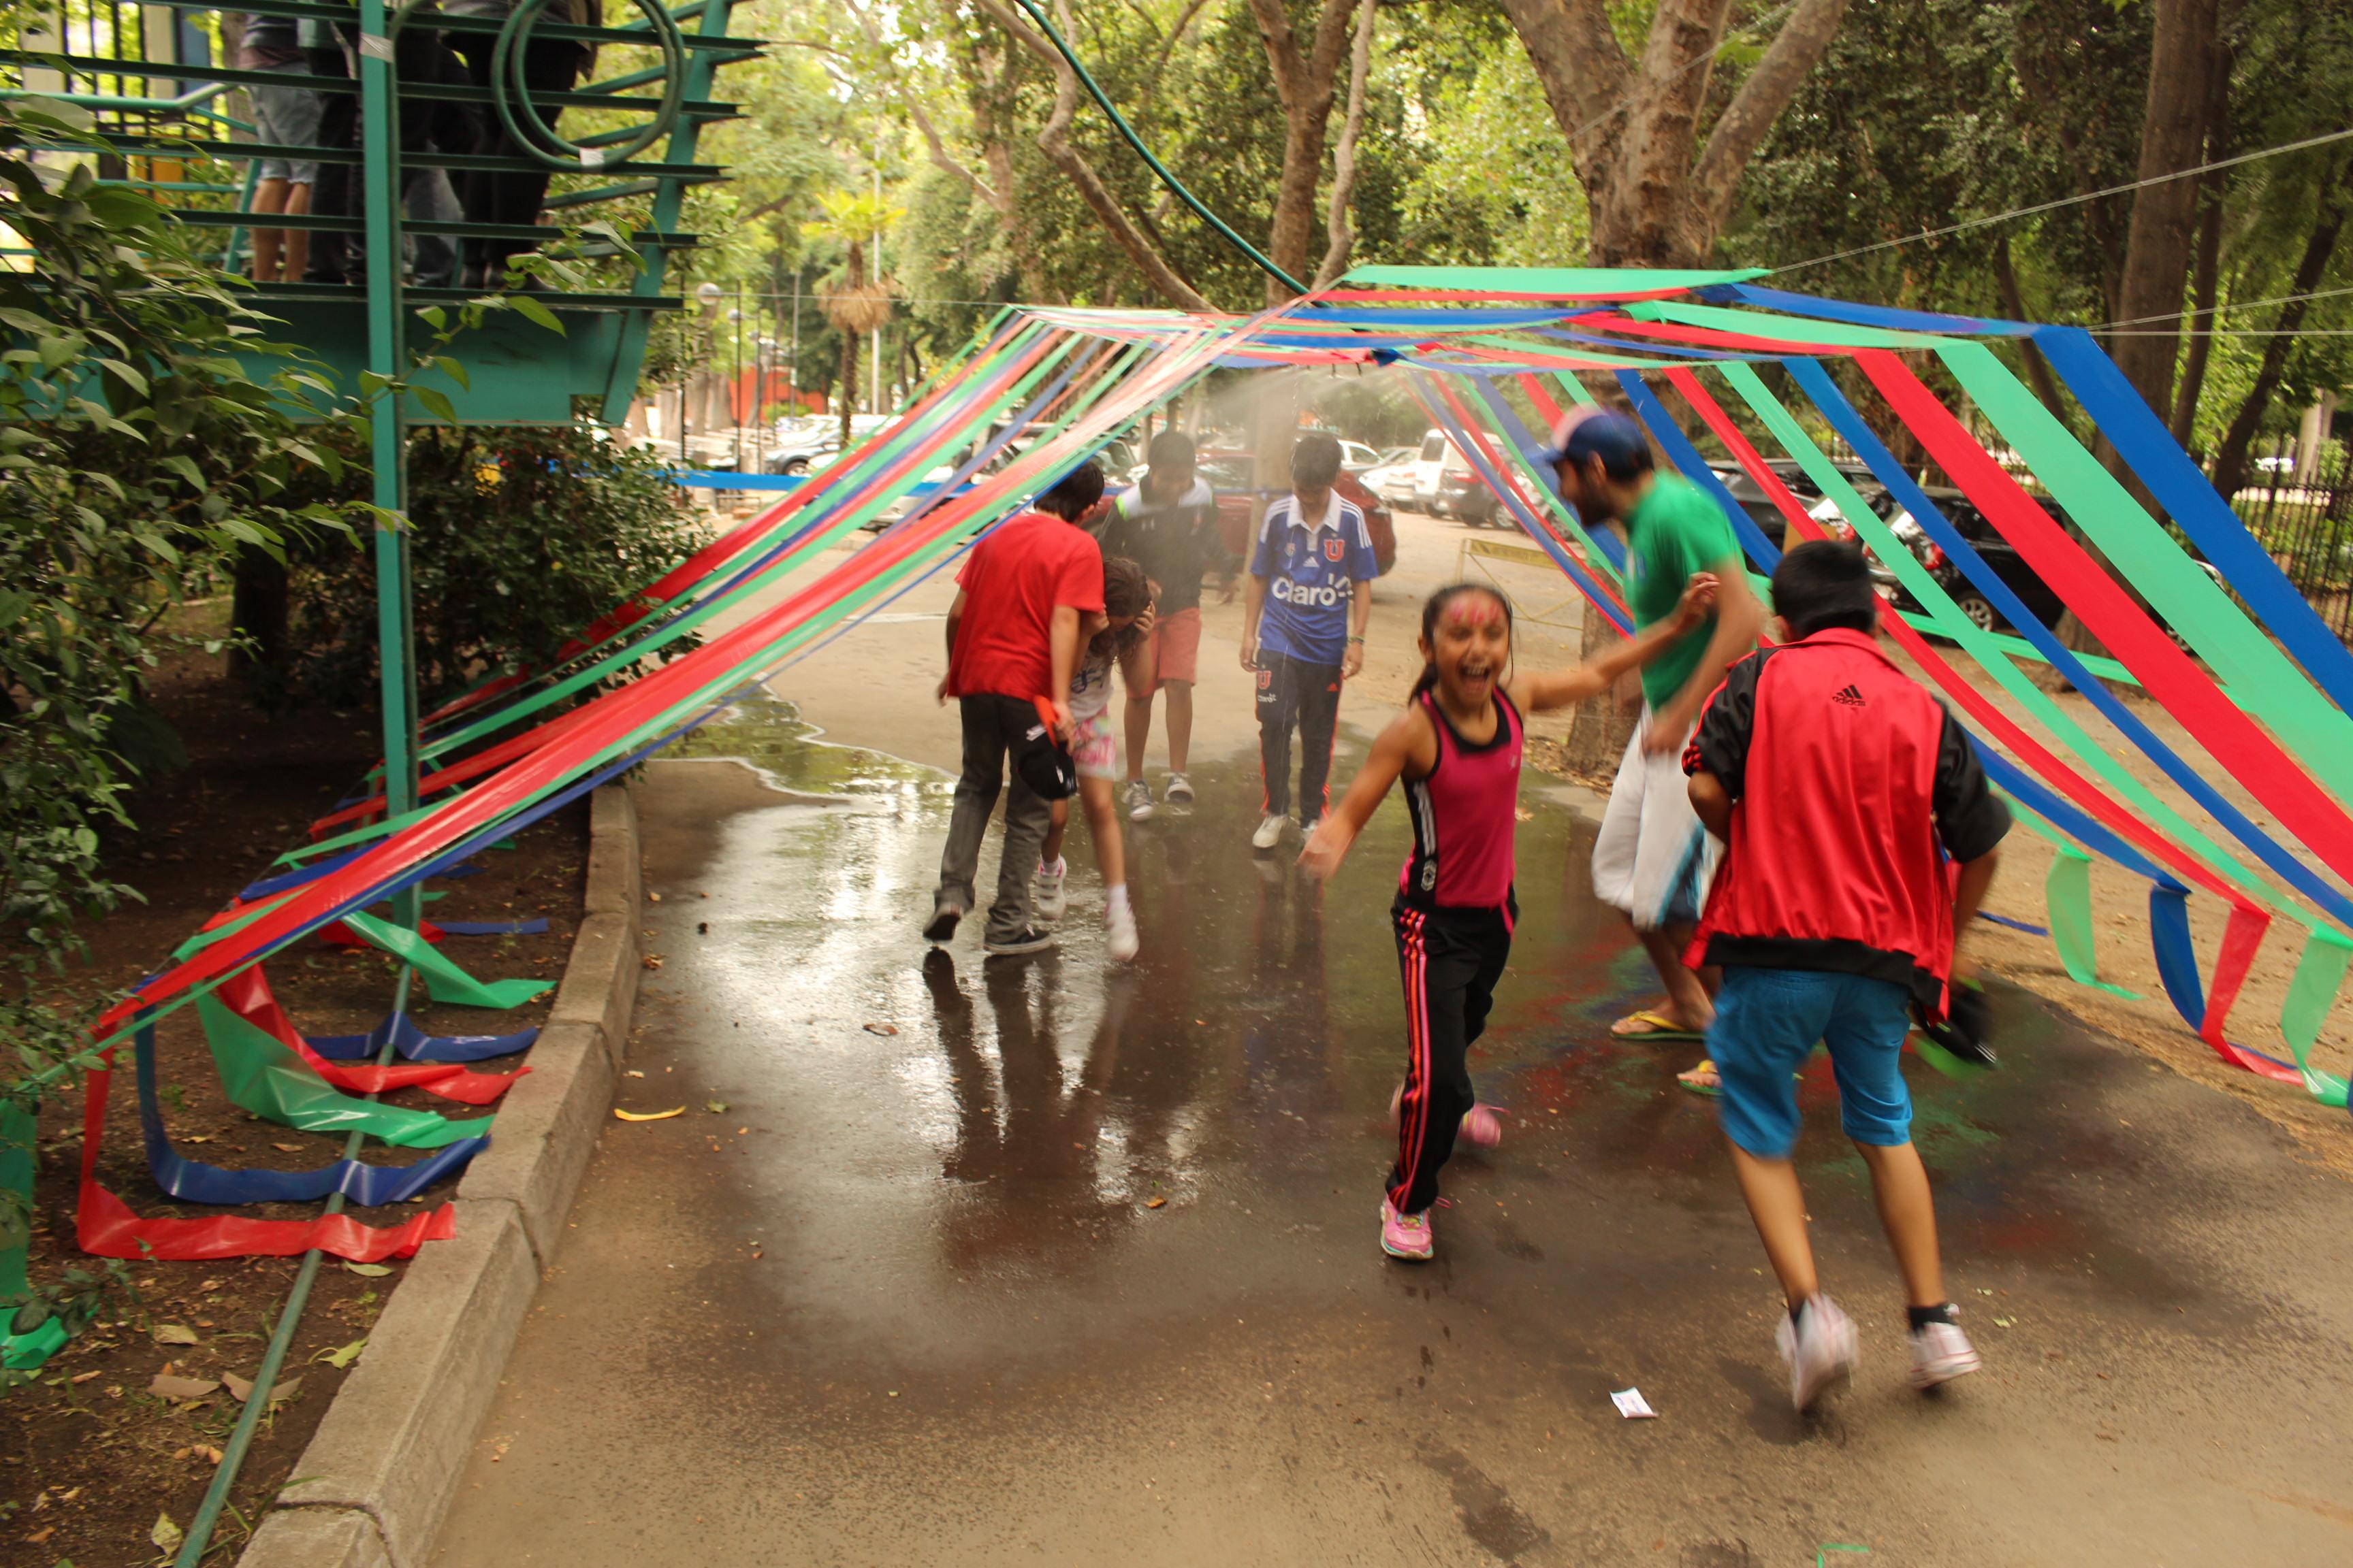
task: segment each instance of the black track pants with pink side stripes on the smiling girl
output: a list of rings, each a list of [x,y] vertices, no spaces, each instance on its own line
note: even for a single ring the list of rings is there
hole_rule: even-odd
[[[1438,1201],[1438,1168],[1454,1154],[1454,1133],[1475,1103],[1468,1053],[1511,957],[1511,914],[1414,910],[1402,898],[1388,914],[1405,976],[1407,1044],[1388,1201],[1398,1213],[1421,1213]]]

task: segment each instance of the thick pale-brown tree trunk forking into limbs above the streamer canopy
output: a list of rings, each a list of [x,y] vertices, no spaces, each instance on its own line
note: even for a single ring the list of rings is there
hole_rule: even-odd
[[[1569,139],[1593,263],[1701,266],[1732,219],[1741,172],[1831,49],[1847,0],[1798,0],[1704,146],[1699,113],[1729,0],[1659,0],[1640,66],[1619,47],[1609,0],[1504,0],[1504,12]]]

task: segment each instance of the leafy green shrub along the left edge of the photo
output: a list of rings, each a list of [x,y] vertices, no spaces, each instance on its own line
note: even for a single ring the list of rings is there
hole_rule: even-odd
[[[80,110],[0,101],[0,223],[40,256],[0,270],[0,1032],[28,1067],[71,1060],[87,999],[38,994],[80,950],[75,922],[129,889],[101,835],[125,823],[134,766],[174,750],[139,705],[179,642],[165,616],[231,550],[348,531],[304,489],[334,475],[334,418],[287,402],[325,390],[299,350],[271,383],[233,357],[273,348],[266,317],[148,197],[99,186],[89,160],[5,150],[75,139]],[[54,155],[52,155],[54,158]]]

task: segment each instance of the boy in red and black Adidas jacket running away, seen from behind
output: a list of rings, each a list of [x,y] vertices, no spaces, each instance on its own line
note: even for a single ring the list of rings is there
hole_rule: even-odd
[[[1955,933],[1993,882],[2009,809],[1969,733],[1880,654],[1857,545],[1798,545],[1772,574],[1772,602],[1781,644],[1725,670],[1682,755],[1692,809],[1727,846],[1689,961],[1725,973],[1708,1056],[1741,1194],[1788,1298],[1777,1342],[1805,1410],[1857,1352],[1854,1324],[1814,1276],[1791,1164],[1791,1079],[1814,1041],[1831,1048],[1840,1121],[1904,1272],[1913,1387],[1979,1368],[1944,1295],[1899,1058],[1911,1009],[1944,1016]]]

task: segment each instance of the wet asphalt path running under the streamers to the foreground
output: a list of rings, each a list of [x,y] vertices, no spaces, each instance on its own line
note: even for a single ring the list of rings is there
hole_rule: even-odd
[[[640,792],[664,966],[621,1103],[687,1114],[607,1126],[438,1563],[2353,1561],[2353,1192],[2231,1100],[2019,992],[2002,1072],[1913,1063],[1988,1361],[1920,1399],[1817,1060],[1866,1363],[1800,1420],[1713,1107],[1687,1048],[1607,1044],[1642,961],[1539,788],[1475,1056],[1506,1140],[1407,1267],[1395,804],[1315,889],[1202,769],[1132,835],[1132,971],[1082,830],[1059,954],[984,964],[969,922],[927,959],[946,780],[793,733],[696,750],[831,804],[715,759]]]

